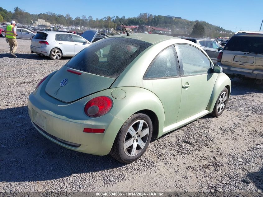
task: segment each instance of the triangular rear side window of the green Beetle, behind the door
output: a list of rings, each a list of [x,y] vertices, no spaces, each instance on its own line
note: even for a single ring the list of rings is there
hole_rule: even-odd
[[[153,60],[143,79],[156,79],[180,76],[179,62],[174,46],[163,50]]]

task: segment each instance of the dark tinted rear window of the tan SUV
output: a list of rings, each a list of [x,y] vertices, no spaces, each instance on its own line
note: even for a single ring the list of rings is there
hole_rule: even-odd
[[[263,37],[233,36],[227,42],[224,50],[262,54],[263,53]]]

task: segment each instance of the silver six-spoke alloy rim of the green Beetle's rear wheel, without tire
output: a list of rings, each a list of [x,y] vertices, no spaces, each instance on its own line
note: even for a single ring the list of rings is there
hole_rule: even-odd
[[[137,120],[127,130],[123,142],[126,155],[133,157],[139,154],[146,145],[149,136],[149,126],[144,120]]]

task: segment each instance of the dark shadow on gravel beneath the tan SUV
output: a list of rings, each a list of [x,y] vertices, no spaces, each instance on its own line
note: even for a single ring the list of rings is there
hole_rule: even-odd
[[[232,88],[231,94],[233,96],[245,95],[251,93],[263,93],[263,84],[255,84],[253,80],[248,79],[231,79]]]

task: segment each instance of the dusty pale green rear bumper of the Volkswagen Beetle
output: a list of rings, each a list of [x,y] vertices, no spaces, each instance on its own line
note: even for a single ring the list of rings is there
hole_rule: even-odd
[[[83,110],[90,100],[88,96],[74,103],[62,103],[48,96],[42,86],[41,84],[31,93],[28,99],[28,114],[35,129],[65,148],[94,155],[107,155],[124,121],[110,113],[90,118]],[[84,133],[84,128],[105,131],[102,134]]]

